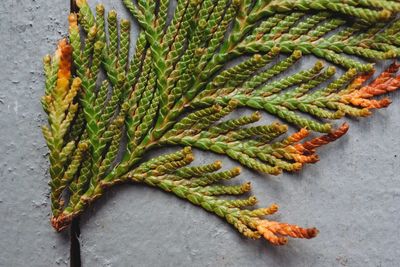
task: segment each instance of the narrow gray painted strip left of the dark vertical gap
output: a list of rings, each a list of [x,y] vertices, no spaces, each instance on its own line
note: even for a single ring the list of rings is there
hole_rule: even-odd
[[[67,265],[49,224],[41,58],[65,34],[67,1],[0,1],[0,266]]]

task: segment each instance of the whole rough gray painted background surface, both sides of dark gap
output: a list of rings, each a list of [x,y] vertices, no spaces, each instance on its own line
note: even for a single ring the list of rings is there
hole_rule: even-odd
[[[120,1],[102,2],[123,11]],[[56,234],[48,223],[39,103],[41,58],[65,35],[68,8],[65,0],[0,1],[0,266],[69,262],[68,234]],[[321,149],[321,161],[301,173],[243,171],[239,180],[252,181],[261,204],[280,205],[274,218],[317,226],[318,238],[272,247],[242,238],[172,195],[123,186],[83,217],[83,266],[398,266],[400,94],[391,98],[388,109],[350,121],[349,134]],[[196,156],[201,163],[216,158]],[[228,159],[224,164],[236,165]]]

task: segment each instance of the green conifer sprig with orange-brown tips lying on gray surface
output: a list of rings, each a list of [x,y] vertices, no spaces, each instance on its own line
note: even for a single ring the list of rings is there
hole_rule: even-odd
[[[131,58],[130,21],[77,0],[69,40],[44,60],[54,228],[68,227],[113,185],[138,182],[215,213],[246,237],[275,245],[315,237],[315,228],[265,219],[276,204],[249,209],[254,196],[221,198],[249,192],[250,183],[224,185],[240,169],[218,172],[219,161],[189,166],[191,147],[272,175],[317,162],[316,149],[349,127],[330,120],[368,116],[390,104],[376,96],[400,87],[400,65],[368,82],[373,64],[357,59],[399,55],[400,3],[179,0],[168,23],[170,1],[123,2],[141,28]],[[304,55],[321,61],[285,76]],[[345,73],[336,77],[335,66]],[[239,107],[256,111],[224,119]],[[260,111],[299,129],[282,137],[282,122],[250,125]],[[312,132],[323,135],[307,139]],[[166,145],[185,148],[143,161]]]

